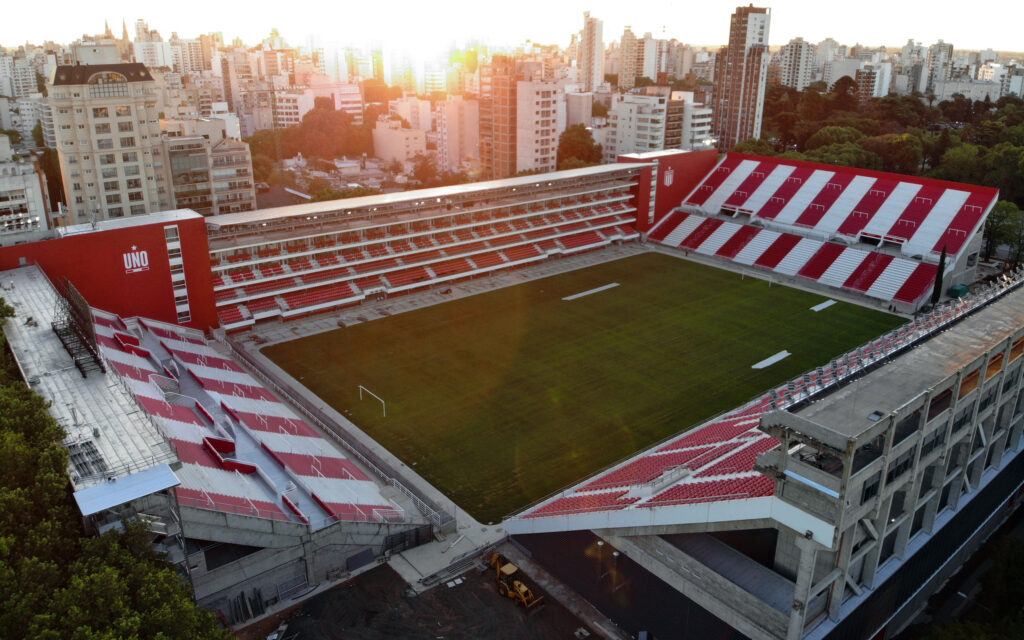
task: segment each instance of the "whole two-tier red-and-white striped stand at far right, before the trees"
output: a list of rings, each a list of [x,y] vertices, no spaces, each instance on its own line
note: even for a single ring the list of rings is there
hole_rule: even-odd
[[[916,310],[943,253],[971,283],[996,190],[728,154],[649,240]]]

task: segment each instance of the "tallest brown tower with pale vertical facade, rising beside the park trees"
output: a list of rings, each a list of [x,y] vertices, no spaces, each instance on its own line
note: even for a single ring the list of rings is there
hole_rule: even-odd
[[[770,9],[736,7],[729,26],[729,44],[715,61],[715,136],[719,148],[761,137],[768,73]]]

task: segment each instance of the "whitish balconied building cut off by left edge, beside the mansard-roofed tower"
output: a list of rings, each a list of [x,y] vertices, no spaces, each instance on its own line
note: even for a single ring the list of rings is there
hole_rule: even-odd
[[[35,240],[49,228],[46,177],[33,159],[14,158],[0,134],[0,245]]]

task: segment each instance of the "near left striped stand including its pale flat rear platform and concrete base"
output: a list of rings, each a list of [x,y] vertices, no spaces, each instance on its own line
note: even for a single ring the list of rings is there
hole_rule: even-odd
[[[202,332],[93,308],[106,374],[80,371],[49,328],[61,306],[46,276],[26,266],[4,283],[17,314],[6,336],[68,432],[87,526],[142,521],[200,604],[240,621],[228,603],[240,591],[288,597],[368,546],[429,540],[429,513]],[[225,565],[203,548],[238,557]]]

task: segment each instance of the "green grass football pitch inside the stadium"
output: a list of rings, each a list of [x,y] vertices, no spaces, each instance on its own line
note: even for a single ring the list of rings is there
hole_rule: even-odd
[[[903,322],[826,299],[646,253],[263,353],[488,522]]]

